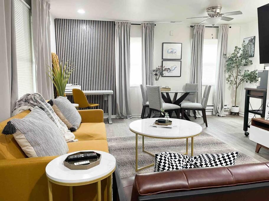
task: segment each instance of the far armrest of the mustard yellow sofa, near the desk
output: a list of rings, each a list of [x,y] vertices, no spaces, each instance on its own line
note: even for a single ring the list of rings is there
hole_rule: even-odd
[[[104,111],[102,109],[78,110],[81,116],[81,123],[104,122]]]

